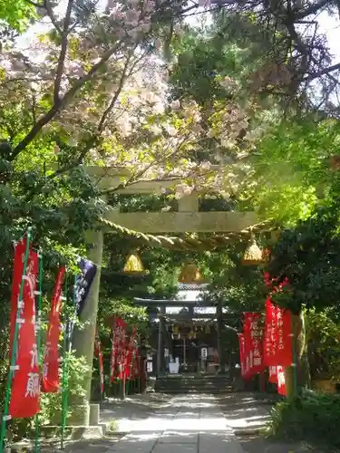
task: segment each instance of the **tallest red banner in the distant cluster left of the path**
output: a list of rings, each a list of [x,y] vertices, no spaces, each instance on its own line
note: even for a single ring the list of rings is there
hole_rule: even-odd
[[[125,371],[125,337],[126,323],[121,318],[115,318],[112,333],[112,354],[110,367],[110,380],[116,377],[123,379]]]

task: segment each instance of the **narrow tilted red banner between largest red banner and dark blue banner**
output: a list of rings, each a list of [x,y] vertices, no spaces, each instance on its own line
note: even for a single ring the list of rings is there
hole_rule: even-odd
[[[50,319],[46,335],[43,366],[43,391],[55,393],[59,390],[59,337],[60,313],[62,310],[62,291],[65,267],[59,269],[53,290]]]

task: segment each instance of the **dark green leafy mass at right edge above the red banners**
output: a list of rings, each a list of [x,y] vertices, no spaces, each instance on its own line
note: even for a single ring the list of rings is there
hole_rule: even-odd
[[[302,306],[338,307],[339,274],[339,184],[335,180],[324,206],[312,217],[300,221],[295,228],[284,230],[273,250],[269,265],[270,275],[279,279],[286,276],[290,286],[282,294],[275,294],[278,304],[299,313]],[[331,198],[332,197],[332,198]]]

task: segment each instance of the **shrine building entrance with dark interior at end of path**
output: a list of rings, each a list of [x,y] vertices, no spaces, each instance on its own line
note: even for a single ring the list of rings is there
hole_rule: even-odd
[[[134,299],[134,304],[146,307],[149,313],[149,374],[217,374],[225,370],[220,342],[223,310],[201,299],[198,291],[185,293],[187,300]]]

